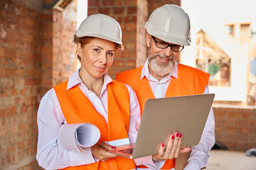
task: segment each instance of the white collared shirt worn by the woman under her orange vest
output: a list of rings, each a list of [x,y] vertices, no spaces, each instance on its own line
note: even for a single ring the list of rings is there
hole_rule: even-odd
[[[89,98],[96,111],[100,113],[108,122],[107,115],[107,84],[112,79],[105,74],[104,84],[100,98],[96,94],[82,83],[79,76],[79,70],[76,71],[70,79],[68,79],[67,89],[78,85],[83,94]],[[137,137],[137,131],[140,123],[140,108],[137,100],[137,96],[130,86],[127,86],[130,94],[130,124],[129,124],[129,142],[134,143]],[[90,147],[85,149],[85,152],[73,152],[67,149],[63,149],[58,146],[58,129],[60,125],[66,123],[63,112],[60,108],[60,103],[55,94],[54,89],[50,89],[41,99],[40,106],[38,108],[38,148],[36,159],[40,166],[44,169],[63,169],[68,166],[79,166],[85,164],[92,164],[98,160],[92,157]],[[162,166],[161,162],[153,163],[152,157],[144,157],[137,159],[136,164],[145,164],[151,169],[158,169],[158,166]]]

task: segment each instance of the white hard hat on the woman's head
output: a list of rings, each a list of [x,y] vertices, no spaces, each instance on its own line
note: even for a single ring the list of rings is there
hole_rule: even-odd
[[[119,23],[110,16],[98,13],[85,18],[73,35],[73,42],[78,44],[79,38],[85,36],[116,42],[121,46],[121,50],[124,50],[124,45],[122,45],[121,27],[119,26]]]

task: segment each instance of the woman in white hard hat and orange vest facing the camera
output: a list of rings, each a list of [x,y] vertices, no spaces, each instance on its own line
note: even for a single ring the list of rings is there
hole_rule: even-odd
[[[38,152],[45,169],[135,169],[133,159],[117,157],[106,149],[135,142],[140,108],[131,87],[107,74],[117,50],[123,50],[119,23],[102,14],[88,16],[75,31],[81,67],[68,81],[50,89],[38,109]],[[58,130],[65,123],[91,123],[100,129],[100,141],[85,152],[73,152],[58,145]],[[160,150],[163,152],[164,145]],[[137,160],[158,169],[162,162],[152,157]]]

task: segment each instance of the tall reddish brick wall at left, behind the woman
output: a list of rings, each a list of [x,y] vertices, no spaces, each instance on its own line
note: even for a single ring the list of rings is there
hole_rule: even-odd
[[[76,23],[40,4],[0,1],[0,169],[39,169],[39,101],[76,66]]]

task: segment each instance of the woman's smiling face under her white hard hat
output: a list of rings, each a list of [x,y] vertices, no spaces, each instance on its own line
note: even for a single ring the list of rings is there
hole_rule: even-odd
[[[84,47],[79,43],[82,76],[101,78],[112,65],[116,50],[117,45],[114,42],[101,38],[92,38]]]

